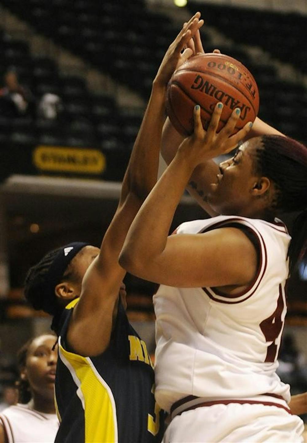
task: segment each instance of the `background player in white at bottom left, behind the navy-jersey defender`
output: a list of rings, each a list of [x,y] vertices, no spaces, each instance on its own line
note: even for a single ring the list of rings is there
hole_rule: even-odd
[[[59,422],[54,406],[58,350],[54,334],[29,340],[18,352],[19,399],[0,414],[0,443],[53,443]]]

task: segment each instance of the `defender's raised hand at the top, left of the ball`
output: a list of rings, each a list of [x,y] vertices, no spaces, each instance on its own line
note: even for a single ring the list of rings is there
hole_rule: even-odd
[[[177,35],[173,43],[170,44],[165,56],[158,69],[157,75],[153,81],[155,85],[166,87],[173,72],[179,68],[191,55],[193,51],[190,47],[186,47],[189,40],[193,38],[195,33],[203,26],[203,20],[200,20],[200,12],[184,23],[181,31]],[[184,49],[184,47],[186,47]],[[183,51],[181,53],[181,51]]]

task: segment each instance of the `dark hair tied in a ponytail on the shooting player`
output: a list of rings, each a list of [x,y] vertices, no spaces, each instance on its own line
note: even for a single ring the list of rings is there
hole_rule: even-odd
[[[274,209],[299,212],[292,228],[290,273],[307,249],[307,147],[284,136],[262,136],[257,148],[257,173],[276,187]]]

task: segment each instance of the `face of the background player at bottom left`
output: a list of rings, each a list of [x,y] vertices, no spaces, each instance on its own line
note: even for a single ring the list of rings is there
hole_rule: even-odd
[[[22,377],[30,385],[32,395],[52,400],[54,397],[55,370],[58,360],[57,346],[53,350],[56,337],[41,335],[33,340],[27,350],[26,366]]]

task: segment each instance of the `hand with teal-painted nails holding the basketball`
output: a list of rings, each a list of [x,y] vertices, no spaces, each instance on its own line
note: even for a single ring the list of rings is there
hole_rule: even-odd
[[[217,103],[206,132],[200,119],[200,106],[196,105],[194,108],[194,132],[192,136],[184,139],[178,148],[178,152],[191,162],[193,169],[200,163],[232,151],[238,142],[246,137],[253,125],[252,122],[248,122],[231,136],[241,112],[241,109],[236,108],[225,126],[217,133],[222,109],[223,103]]]

